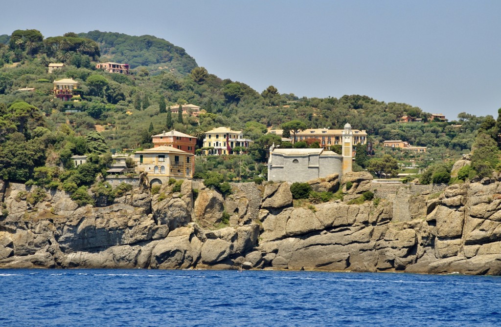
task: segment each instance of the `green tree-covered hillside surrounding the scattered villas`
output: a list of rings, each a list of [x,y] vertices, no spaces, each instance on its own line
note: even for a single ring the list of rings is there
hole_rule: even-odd
[[[217,126],[243,130],[255,143],[241,160],[200,158],[198,176],[216,170],[227,180],[235,175],[252,179],[266,175],[266,149],[272,142],[281,143],[278,136],[265,136],[267,129],[280,128],[295,119],[307,128],[342,128],[349,122],[356,129],[367,130],[375,144],[371,153],[374,164],[369,165],[369,157],[361,158],[357,169],[376,167],[384,163],[376,159],[390,154],[399,164],[415,162],[419,168],[443,162],[440,169],[450,173],[452,162],[470,152],[479,130],[487,138],[477,141],[478,146],[491,150],[485,152],[487,157],[473,158],[475,169],[484,171],[480,173],[483,176],[498,162],[495,151],[501,122],[492,116],[461,113],[458,121],[435,122],[428,121],[430,114],[419,107],[366,95],[300,98],[280,93],[273,85],[259,92],[197,67],[184,49],[151,35],[91,31],[44,38],[40,31],[31,29],[0,35],[0,40],[6,43],[0,44],[0,178],[7,180],[37,182],[41,178],[36,176],[37,167],[71,171],[68,159],[72,154],[103,156],[109,150],[150,147],[150,136],[162,130],[175,128],[201,138],[203,132]],[[95,68],[96,63],[107,60],[127,61],[134,69],[130,75],[122,75]],[[65,67],[49,73],[50,62],[64,62]],[[81,101],[54,98],[52,81],[62,78],[80,83],[76,92]],[[167,107],[192,103],[205,113],[169,120],[163,103]],[[403,114],[424,122],[395,122]],[[382,148],[381,142],[388,139],[402,139],[428,150],[417,154]],[[363,147],[358,149],[357,153],[365,152]],[[96,157],[92,171],[81,174],[99,174],[106,160]],[[391,174],[395,172],[391,169]],[[68,174],[55,171],[49,175],[49,181],[71,182],[75,187],[87,187],[93,181],[85,176],[69,181]],[[427,182],[432,175],[426,177]]]

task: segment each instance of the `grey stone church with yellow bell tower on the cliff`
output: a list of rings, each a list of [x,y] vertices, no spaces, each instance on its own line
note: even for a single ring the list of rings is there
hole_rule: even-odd
[[[268,158],[268,180],[305,182],[352,171],[353,132],[349,123],[342,134],[342,153],[325,148],[284,148],[272,145]]]

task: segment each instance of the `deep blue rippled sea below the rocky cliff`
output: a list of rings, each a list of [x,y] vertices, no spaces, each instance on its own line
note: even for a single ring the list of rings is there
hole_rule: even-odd
[[[501,277],[1,269],[0,326],[501,326]]]

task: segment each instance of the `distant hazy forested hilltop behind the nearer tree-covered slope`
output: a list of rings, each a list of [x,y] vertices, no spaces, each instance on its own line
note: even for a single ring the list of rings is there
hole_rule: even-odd
[[[197,66],[195,59],[182,47],[156,36],[131,36],[99,30],[78,35],[99,43],[101,61],[126,62],[131,68],[150,66],[157,69],[175,70],[181,74],[187,74]]]

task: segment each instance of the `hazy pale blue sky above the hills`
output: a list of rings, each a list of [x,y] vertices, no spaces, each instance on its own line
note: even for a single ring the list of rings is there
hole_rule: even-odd
[[[499,0],[2,2],[0,34],[151,34],[259,92],[363,94],[450,118],[501,107]]]

